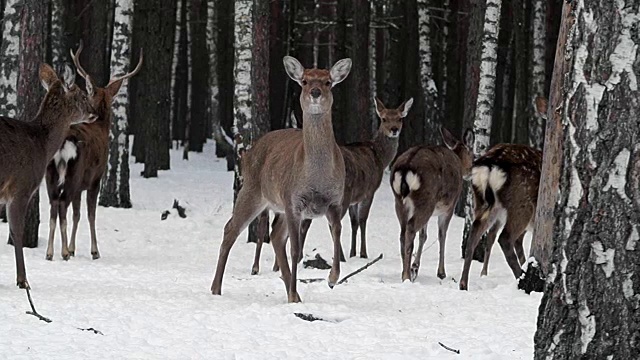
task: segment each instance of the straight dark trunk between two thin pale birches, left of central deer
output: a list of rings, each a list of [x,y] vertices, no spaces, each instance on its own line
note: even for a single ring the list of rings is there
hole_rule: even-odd
[[[191,123],[189,150],[202,152],[207,139],[209,55],[207,54],[207,3],[190,0],[191,27]]]

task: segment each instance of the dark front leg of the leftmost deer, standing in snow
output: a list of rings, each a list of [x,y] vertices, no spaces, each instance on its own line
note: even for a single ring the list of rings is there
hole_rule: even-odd
[[[16,256],[16,283],[21,289],[30,289],[27,282],[27,272],[24,266],[24,254],[22,252],[22,240],[24,236],[24,223],[29,206],[29,197],[20,196],[13,199],[7,207],[9,215],[9,232],[13,239],[13,247]]]

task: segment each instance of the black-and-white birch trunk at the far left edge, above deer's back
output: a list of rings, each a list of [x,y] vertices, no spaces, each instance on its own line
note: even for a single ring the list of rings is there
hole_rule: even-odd
[[[2,26],[0,61],[0,116],[16,117],[18,102],[18,57],[20,53],[20,0],[7,0]]]

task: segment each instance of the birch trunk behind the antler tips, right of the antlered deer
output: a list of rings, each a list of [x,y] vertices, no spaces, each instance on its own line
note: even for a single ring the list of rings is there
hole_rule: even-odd
[[[111,47],[111,78],[129,71],[131,62],[131,27],[133,0],[116,0]],[[128,81],[113,98],[111,131],[109,132],[109,161],[102,180],[100,205],[130,208],[129,191],[129,137],[127,136]]]

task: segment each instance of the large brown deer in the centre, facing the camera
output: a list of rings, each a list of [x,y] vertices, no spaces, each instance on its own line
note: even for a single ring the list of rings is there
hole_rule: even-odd
[[[291,272],[284,239],[272,239],[285,282],[288,301],[299,302],[297,259],[300,258],[300,223],[326,215],[331,224],[334,245],[329,286],[340,275],[340,215],[345,168],[331,123],[331,88],[342,82],[351,70],[351,60],[338,61],[331,70],[305,69],[298,60],[285,56],[284,67],[300,84],[300,105],[304,128],[267,133],[243,157],[244,184],[238,193],[233,215],[224,228],[218,264],[211,292],[220,295],[229,251],[238,235],[262,211],[284,213],[278,231],[291,235]]]

